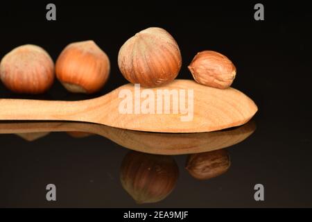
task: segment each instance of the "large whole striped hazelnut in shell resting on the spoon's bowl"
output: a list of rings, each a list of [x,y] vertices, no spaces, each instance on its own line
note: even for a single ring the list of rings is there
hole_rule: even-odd
[[[121,74],[130,83],[156,87],[170,83],[182,65],[179,46],[163,28],[146,28],[130,37],[119,51]]]

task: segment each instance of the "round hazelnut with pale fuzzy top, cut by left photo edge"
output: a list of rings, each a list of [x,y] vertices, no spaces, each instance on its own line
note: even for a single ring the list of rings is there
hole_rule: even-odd
[[[0,78],[12,92],[44,93],[53,84],[53,60],[40,46],[19,46],[1,60]]]

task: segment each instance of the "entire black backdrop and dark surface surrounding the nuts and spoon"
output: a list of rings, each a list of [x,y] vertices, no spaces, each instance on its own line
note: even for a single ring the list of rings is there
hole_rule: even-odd
[[[236,65],[233,87],[259,106],[257,131],[229,148],[232,167],[225,175],[198,182],[183,171],[166,200],[141,207],[311,207],[311,40],[312,13],[304,2],[262,2],[265,20],[254,20],[255,2],[51,1],[57,21],[46,21],[46,4],[0,3],[0,58],[21,44],[37,44],[55,60],[71,42],[94,40],[110,57],[110,80],[100,96],[123,85],[117,65],[120,46],[150,26],[175,37],[183,58],[178,78],[191,78],[187,65],[198,51],[211,49]],[[261,1],[259,1],[261,2]],[[0,85],[1,98],[26,98]],[[55,81],[35,99],[73,100]],[[0,135],[1,207],[137,207],[119,183],[125,148],[101,137],[71,139],[62,133],[26,143]],[[92,182],[90,182],[92,181]],[[45,200],[45,185],[60,187],[56,203]],[[253,199],[262,183],[266,200]]]

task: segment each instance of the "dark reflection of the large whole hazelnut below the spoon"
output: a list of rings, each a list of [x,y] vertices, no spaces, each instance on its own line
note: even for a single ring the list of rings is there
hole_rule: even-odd
[[[155,203],[171,193],[178,169],[173,157],[131,151],[121,164],[123,189],[137,203]]]

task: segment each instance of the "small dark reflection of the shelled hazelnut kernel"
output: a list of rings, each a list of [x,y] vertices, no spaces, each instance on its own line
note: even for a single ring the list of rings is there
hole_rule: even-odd
[[[193,178],[208,180],[225,173],[231,162],[225,149],[189,155],[186,169]]]

